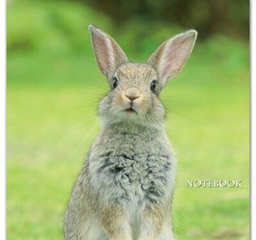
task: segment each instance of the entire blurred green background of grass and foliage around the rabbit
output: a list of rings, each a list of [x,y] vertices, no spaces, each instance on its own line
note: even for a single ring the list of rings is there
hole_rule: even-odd
[[[72,185],[108,92],[88,24],[146,61],[198,30],[182,73],[160,98],[178,155],[178,239],[249,239],[249,1],[7,0],[7,238],[62,239]],[[186,180],[242,188],[186,188]]]

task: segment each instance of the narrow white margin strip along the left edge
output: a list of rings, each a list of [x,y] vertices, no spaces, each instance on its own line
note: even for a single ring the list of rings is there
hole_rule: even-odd
[[[6,1],[0,1],[0,239],[6,239]]]

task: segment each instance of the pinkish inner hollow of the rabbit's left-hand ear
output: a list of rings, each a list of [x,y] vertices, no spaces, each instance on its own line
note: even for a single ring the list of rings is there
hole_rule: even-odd
[[[110,52],[106,39],[102,36],[96,36],[93,45],[100,70],[106,75],[110,68]]]

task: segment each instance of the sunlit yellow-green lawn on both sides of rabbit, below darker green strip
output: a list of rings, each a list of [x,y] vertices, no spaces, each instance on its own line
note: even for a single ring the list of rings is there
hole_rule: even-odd
[[[102,81],[107,87],[98,70],[89,76],[84,83],[50,85],[42,75],[41,83],[24,81],[23,87],[10,79],[8,239],[62,238],[68,197],[100,127],[97,101],[106,92],[88,82],[99,76],[97,85]],[[247,77],[221,88],[193,86],[180,77],[181,83],[174,80],[162,93],[168,135],[178,155],[174,227],[180,239],[248,238]],[[190,179],[241,179],[243,188],[187,189]]]

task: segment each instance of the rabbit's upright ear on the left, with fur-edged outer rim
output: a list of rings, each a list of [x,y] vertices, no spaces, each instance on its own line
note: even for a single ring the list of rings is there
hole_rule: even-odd
[[[119,65],[127,63],[128,59],[119,45],[104,31],[89,25],[92,47],[100,68],[107,77],[118,68]]]

